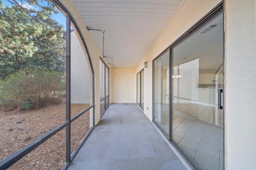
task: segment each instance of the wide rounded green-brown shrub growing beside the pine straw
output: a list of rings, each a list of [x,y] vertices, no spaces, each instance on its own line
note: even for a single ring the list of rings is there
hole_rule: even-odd
[[[23,69],[0,81],[0,107],[38,109],[60,102],[64,93],[63,73]]]

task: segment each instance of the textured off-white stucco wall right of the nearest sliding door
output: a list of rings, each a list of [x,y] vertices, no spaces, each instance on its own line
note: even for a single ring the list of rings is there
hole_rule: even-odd
[[[255,0],[225,1],[226,169],[256,168]]]

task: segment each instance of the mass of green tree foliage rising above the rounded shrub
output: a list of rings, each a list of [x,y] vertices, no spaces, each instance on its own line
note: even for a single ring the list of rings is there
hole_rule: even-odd
[[[0,78],[21,68],[65,70],[63,27],[52,13],[58,9],[45,0],[0,0]]]

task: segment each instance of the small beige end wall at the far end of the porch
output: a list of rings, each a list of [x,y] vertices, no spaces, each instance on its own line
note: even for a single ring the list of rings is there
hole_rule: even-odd
[[[110,68],[111,103],[136,103],[135,67]]]

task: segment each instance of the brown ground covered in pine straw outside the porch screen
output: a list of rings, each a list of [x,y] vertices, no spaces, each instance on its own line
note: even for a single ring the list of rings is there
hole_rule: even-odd
[[[71,117],[88,107],[71,104]],[[0,161],[66,120],[65,100],[56,106],[28,111],[0,111]],[[71,153],[90,129],[90,113],[71,123]],[[66,162],[66,128],[10,166],[10,170],[58,170]]]

